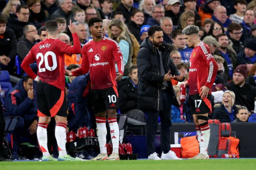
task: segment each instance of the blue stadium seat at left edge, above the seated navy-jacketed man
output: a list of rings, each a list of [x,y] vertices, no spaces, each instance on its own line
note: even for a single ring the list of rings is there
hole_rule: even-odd
[[[1,71],[0,85],[1,85],[1,88],[2,88],[1,96],[2,96],[2,98],[5,98],[5,96],[7,95],[8,91],[13,88],[12,84],[10,82],[9,72],[6,71],[6,70],[2,70]]]

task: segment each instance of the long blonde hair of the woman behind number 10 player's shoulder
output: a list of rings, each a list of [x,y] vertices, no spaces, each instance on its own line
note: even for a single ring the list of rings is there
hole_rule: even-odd
[[[113,27],[113,26],[116,26],[117,28],[121,29],[120,35],[117,36],[116,38],[114,37],[114,35],[111,32],[111,27]],[[109,24],[108,24],[109,38],[111,38],[111,39],[115,40],[117,43],[119,43],[120,40],[126,40],[125,33],[126,33],[126,26],[120,19],[114,19],[109,22]]]

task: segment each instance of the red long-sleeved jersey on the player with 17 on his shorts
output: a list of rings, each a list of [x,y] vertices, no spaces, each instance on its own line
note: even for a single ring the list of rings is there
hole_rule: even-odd
[[[189,95],[200,93],[202,86],[210,88],[215,81],[218,65],[208,45],[201,42],[191,52],[189,59]]]

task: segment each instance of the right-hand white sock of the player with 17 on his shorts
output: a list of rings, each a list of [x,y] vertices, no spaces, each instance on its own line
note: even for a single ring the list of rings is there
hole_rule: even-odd
[[[209,139],[210,139],[210,126],[207,123],[207,125],[201,126],[200,128],[201,128],[200,153],[202,153],[204,155],[208,155],[207,148],[208,148]]]

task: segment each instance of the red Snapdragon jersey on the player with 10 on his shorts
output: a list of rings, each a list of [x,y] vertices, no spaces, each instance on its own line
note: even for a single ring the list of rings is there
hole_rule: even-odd
[[[104,89],[116,85],[115,62],[122,75],[124,69],[123,56],[116,41],[107,37],[103,37],[99,42],[92,40],[83,46],[81,53],[81,68],[73,71],[73,76],[90,71],[92,89]]]

